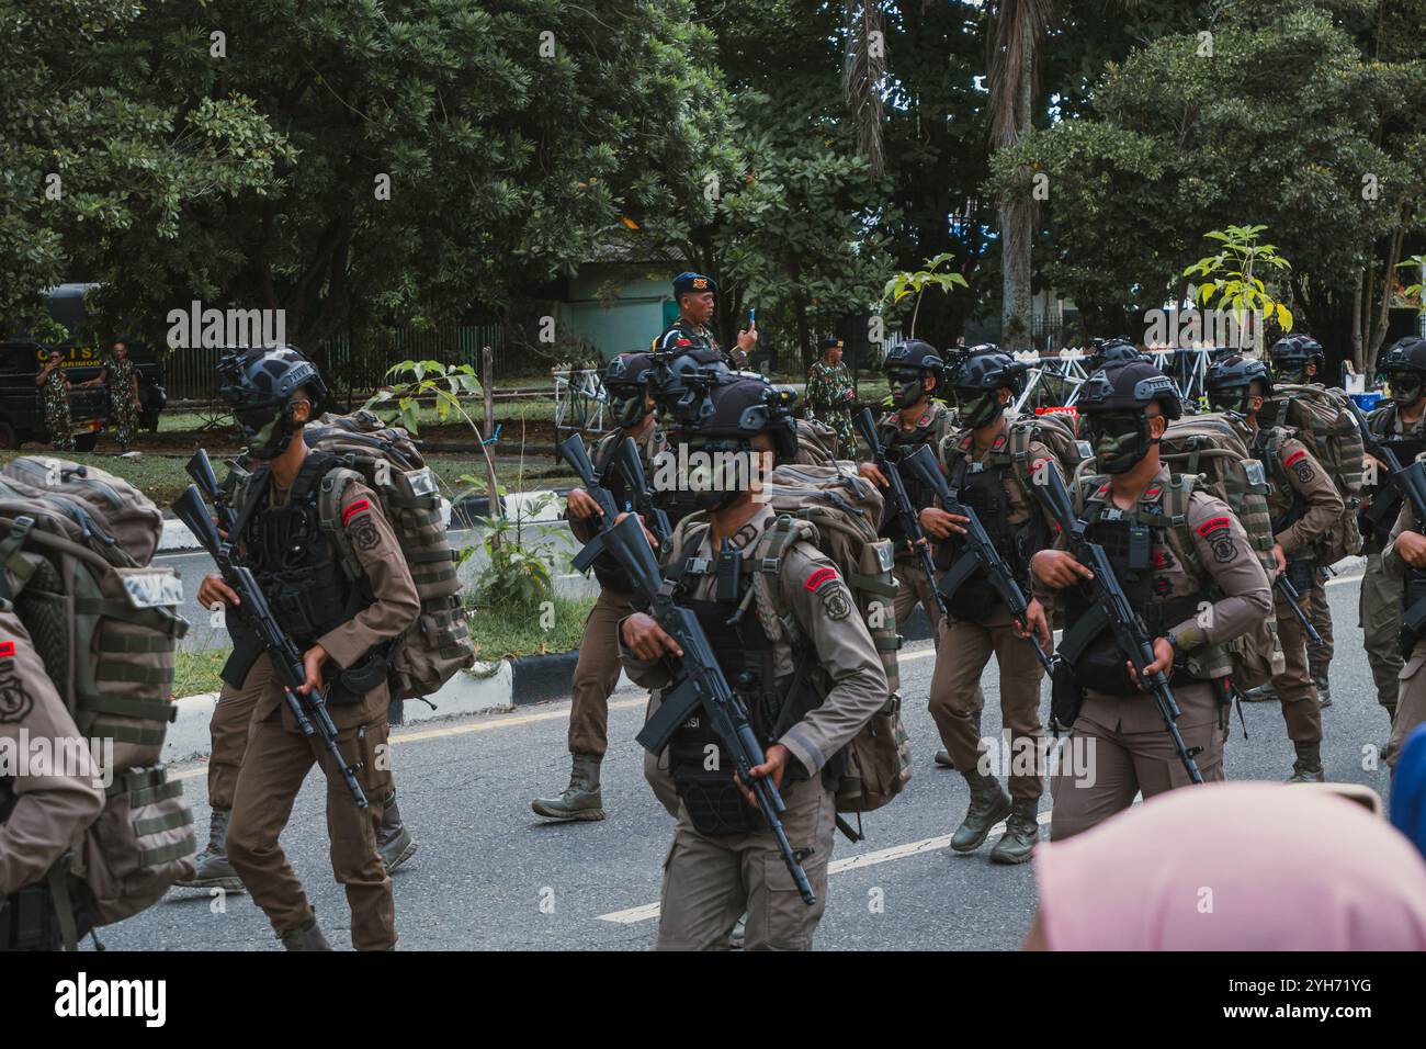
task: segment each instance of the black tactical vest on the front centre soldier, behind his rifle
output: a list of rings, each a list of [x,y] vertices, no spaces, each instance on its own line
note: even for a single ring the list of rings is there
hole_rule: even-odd
[[[690,535],[690,542],[700,542]],[[696,547],[694,547],[696,548]],[[742,562],[742,551],[737,552]],[[674,599],[692,611],[709,638],[713,655],[727,684],[747,711],[747,719],[766,751],[767,746],[801,716],[790,715],[787,698],[796,674],[779,681],[773,661],[773,642],[756,615],[746,615],[752,602],[752,571],[742,564],[736,578],[720,578],[719,599],[687,598],[696,577],[716,575],[717,561],[687,557],[670,565],[666,578],[674,584]],[[693,578],[690,578],[693,577]],[[726,746],[703,711],[694,712],[669,741],[669,771],[689,811],[689,819],[703,833],[752,833],[764,829],[761,814],[743,801],[733,781],[733,765],[724,761]],[[784,782],[806,778],[797,762],[790,762]]]

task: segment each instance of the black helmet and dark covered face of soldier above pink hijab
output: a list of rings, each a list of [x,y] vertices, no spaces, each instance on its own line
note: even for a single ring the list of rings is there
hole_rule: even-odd
[[[1087,437],[1101,470],[1122,474],[1156,444],[1145,410],[1158,404],[1166,420],[1184,414],[1174,380],[1149,361],[1111,364],[1079,387],[1075,408],[1084,414]]]

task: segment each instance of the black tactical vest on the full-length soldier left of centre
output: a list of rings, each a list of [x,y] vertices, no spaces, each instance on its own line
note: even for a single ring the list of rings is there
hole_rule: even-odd
[[[261,465],[252,474],[235,522],[242,564],[252,569],[278,625],[301,649],[311,648],[318,638],[351,622],[372,604],[366,577],[354,579],[342,569],[321,527],[318,488],[334,467],[337,457],[331,452],[311,452],[292,481],[287,502],[272,507],[271,468]],[[260,652],[261,647],[235,644],[222,679],[240,686]],[[372,679],[362,688],[375,674],[371,662],[384,657],[385,651],[372,649],[358,665],[347,668],[332,682],[328,704],[361,699],[378,684]],[[384,664],[381,676],[385,676]]]

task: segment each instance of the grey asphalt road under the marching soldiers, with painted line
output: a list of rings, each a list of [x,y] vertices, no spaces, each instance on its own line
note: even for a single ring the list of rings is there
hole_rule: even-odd
[[[1325,712],[1329,775],[1386,792],[1383,771],[1363,768],[1363,754],[1385,742],[1386,719],[1370,691],[1360,632],[1359,582],[1329,587],[1338,624],[1332,684]],[[1031,868],[998,868],[988,846],[957,855],[944,846],[964,814],[965,784],[935,769],[935,729],[925,712],[933,665],[928,644],[903,649],[903,689],[915,778],[907,792],[866,818],[868,841],[838,838],[827,915],[819,949],[1012,949],[1035,906]],[[995,675],[984,681],[991,701],[987,734],[1000,732]],[[1047,692],[1048,696],[1048,692]],[[650,905],[670,839],[667,814],[643,782],[633,735],[645,698],[620,691],[612,702],[615,741],[605,766],[602,824],[545,825],[529,811],[535,794],[559,791],[568,776],[568,702],[512,714],[425,722],[396,736],[401,805],[421,851],[394,876],[404,949],[645,949],[655,942]],[[1233,779],[1282,779],[1292,748],[1279,708],[1245,708],[1249,738],[1233,724],[1228,774]],[[185,791],[207,826],[201,766],[187,768]],[[1041,802],[1048,819],[1048,794]],[[304,789],[284,836],[298,873],[334,945],[349,945],[347,905],[325,855],[319,781]],[[878,906],[880,905],[880,906]],[[103,935],[111,949],[274,949],[262,913],[245,896],[225,911],[204,893],[170,898]]]

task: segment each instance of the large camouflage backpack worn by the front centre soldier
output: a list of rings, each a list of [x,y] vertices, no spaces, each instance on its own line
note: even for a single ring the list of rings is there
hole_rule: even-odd
[[[877,535],[881,492],[857,474],[837,467],[791,464],[767,477],[763,498],[777,520],[753,551],[756,571],[746,599],[763,632],[773,642],[789,641],[797,654],[797,695],[790,695],[789,702],[810,709],[830,691],[809,638],[783,602],[781,555],[794,542],[810,542],[837,567],[881,657],[887,701],[843,749],[836,798],[838,812],[871,812],[898,795],[911,779],[910,736],[901,722],[901,696],[897,695],[901,638],[896,631],[894,557],[891,541]],[[684,548],[696,548],[703,529],[702,522],[690,528]]]

